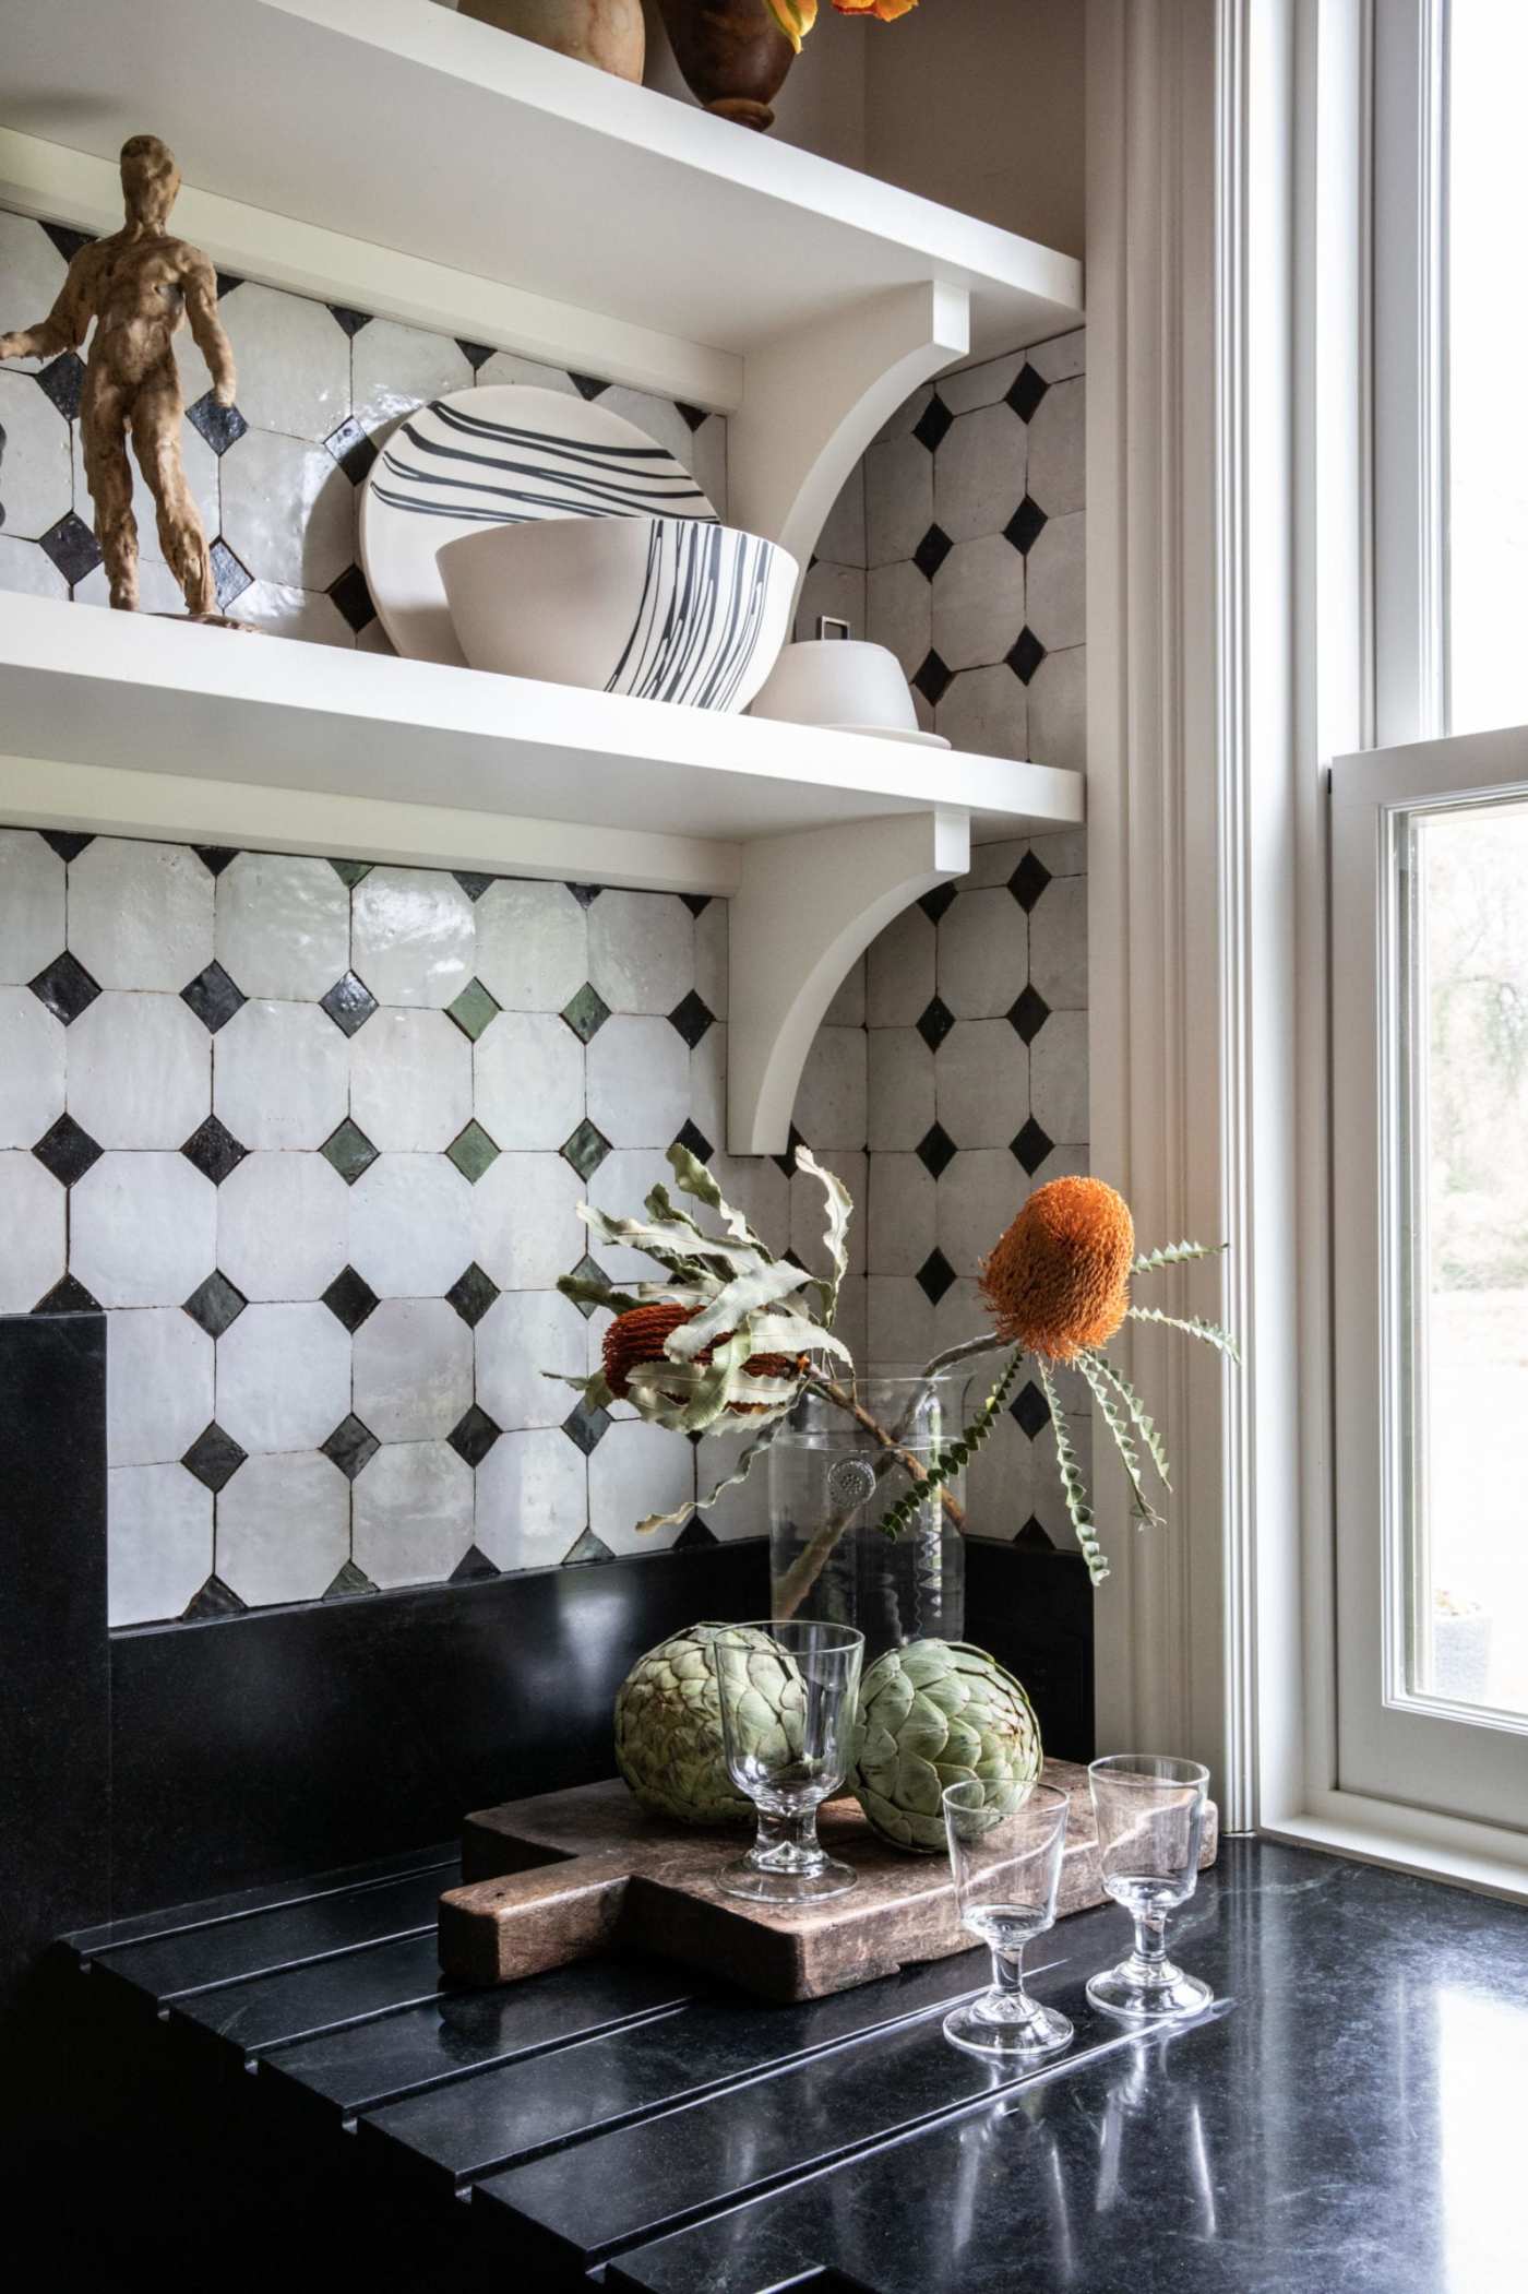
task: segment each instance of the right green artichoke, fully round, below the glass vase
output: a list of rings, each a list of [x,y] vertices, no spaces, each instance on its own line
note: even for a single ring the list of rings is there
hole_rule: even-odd
[[[865,1675],[849,1782],[874,1828],[899,1849],[943,1849],[945,1785],[980,1778],[987,1805],[1005,1808],[1039,1766],[1035,1709],[987,1649],[913,1640]]]

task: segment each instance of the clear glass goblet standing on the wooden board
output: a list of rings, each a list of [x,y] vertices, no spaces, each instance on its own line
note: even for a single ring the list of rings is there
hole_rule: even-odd
[[[821,1904],[858,1886],[817,1842],[817,1810],[849,1773],[865,1636],[812,1617],[732,1626],[711,1643],[727,1776],[759,1812],[748,1856],[720,1872],[725,1895]]]

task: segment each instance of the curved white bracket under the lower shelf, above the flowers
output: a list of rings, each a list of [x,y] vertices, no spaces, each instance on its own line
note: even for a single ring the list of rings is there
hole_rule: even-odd
[[[897,812],[743,846],[732,897],[727,1145],[785,1154],[812,1039],[849,966],[970,867],[970,814]]]

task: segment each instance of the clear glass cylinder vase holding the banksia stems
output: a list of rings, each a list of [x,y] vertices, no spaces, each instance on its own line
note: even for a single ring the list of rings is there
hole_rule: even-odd
[[[805,1392],[769,1450],[771,1615],[853,1624],[867,1663],[909,1640],[964,1640],[964,1475],[895,1535],[881,1521],[959,1434],[966,1376],[886,1370],[840,1392],[851,1409]]]

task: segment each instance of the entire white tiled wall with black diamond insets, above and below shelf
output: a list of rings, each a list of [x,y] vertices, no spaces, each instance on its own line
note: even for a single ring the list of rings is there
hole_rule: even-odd
[[[16,317],[69,245],[0,213]],[[186,443],[243,619],[385,649],[353,555],[369,438],[473,372],[601,395],[725,502],[720,418],[252,282],[225,298],[239,420],[202,408]],[[892,645],[925,723],[1055,764],[1083,762],[1081,346],[918,392],[803,601],[803,631],[847,612]],[[0,372],[0,587],[103,601],[76,365]],[[142,502],[140,530],[145,606],[174,610]],[[725,929],[675,895],[0,830],[0,1312],[110,1310],[115,1622],[599,1560],[688,1493],[691,1445],[590,1422],[539,1372],[599,1335],[551,1287],[576,1202],[633,1207],[677,1136],[817,1248],[789,1158],[718,1152]],[[980,1255],[1085,1165],[1083,1007],[1081,835],[980,849],[844,982],[796,1133],[860,1209],[858,1360],[973,1331]],[[1065,1539],[1032,1388],[970,1496],[984,1535]],[[759,1482],[686,1539],[764,1521]]]

